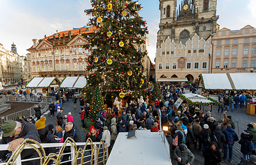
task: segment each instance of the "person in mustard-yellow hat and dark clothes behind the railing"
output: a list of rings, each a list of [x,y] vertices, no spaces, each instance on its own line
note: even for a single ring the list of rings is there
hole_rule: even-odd
[[[40,118],[39,120],[36,120],[36,128],[39,132],[39,137],[42,143],[46,143],[46,136],[48,133],[48,128],[45,126],[45,117]]]

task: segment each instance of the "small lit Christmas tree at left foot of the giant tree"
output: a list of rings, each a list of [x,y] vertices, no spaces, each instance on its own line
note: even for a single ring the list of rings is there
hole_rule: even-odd
[[[103,111],[103,110],[104,110],[103,96],[101,94],[100,87],[97,86],[93,94],[92,103],[90,105],[89,119],[92,120],[92,122],[94,122],[98,113],[100,113],[100,111]]]

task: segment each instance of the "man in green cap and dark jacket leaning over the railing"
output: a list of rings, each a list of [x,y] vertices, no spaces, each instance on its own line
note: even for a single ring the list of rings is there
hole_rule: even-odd
[[[19,146],[25,139],[32,139],[41,143],[36,126],[30,122],[6,120],[1,124],[1,131],[3,131],[3,137],[0,144],[9,144],[9,151],[15,151],[17,146]],[[17,139],[14,140],[14,137],[17,137]],[[6,155],[8,153],[8,151],[0,151],[0,158],[2,161],[6,160]],[[21,151],[21,159],[30,159],[34,157],[39,157],[34,149]],[[23,162],[22,164],[37,165],[40,164],[40,159],[30,160],[28,162]]]

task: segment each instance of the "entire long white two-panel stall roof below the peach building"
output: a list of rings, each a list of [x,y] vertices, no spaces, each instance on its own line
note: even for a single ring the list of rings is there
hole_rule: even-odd
[[[202,74],[204,89],[256,90],[255,73]]]

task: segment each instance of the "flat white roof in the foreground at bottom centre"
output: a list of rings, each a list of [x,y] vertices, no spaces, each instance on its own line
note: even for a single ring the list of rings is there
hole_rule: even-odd
[[[171,164],[160,133],[137,130],[136,137],[127,139],[127,133],[118,133],[107,165]]]

